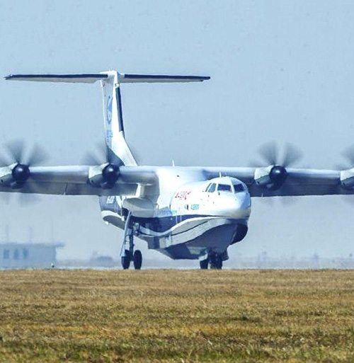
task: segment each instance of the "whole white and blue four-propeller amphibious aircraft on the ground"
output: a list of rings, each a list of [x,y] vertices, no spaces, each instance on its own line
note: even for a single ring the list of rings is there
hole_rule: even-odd
[[[0,191],[52,195],[96,195],[103,220],[124,230],[122,267],[142,267],[135,237],[173,259],[222,268],[227,248],[248,231],[251,197],[354,194],[354,168],[292,168],[299,159],[289,147],[282,161],[263,149],[266,166],[138,166],[125,139],[120,85],[137,82],[198,82],[207,76],[120,74],[13,74],[13,81],[101,82],[105,122],[105,162],[79,166],[39,166],[40,151],[24,160],[10,146],[11,162],[0,168]],[[354,163],[353,155],[350,156]]]

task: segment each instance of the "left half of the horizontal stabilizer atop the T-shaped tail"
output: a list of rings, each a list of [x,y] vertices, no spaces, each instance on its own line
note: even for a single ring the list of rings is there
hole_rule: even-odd
[[[5,79],[10,81],[37,81],[37,82],[69,82],[69,83],[94,83],[107,79],[108,74],[10,74]]]

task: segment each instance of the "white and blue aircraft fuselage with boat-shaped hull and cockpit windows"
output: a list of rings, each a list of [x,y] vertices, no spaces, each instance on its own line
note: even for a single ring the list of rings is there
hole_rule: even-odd
[[[124,229],[132,211],[135,236],[173,259],[202,259],[224,254],[246,236],[251,197],[236,178],[205,180],[203,173],[182,167],[157,168],[159,183],[132,197],[101,197],[102,217]]]

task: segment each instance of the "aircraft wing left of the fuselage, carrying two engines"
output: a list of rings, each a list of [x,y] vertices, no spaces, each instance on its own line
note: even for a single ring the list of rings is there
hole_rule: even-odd
[[[0,192],[21,192],[51,195],[134,195],[137,185],[154,185],[153,168],[120,166],[113,185],[105,183],[101,166],[33,166],[23,175],[19,164],[0,168]],[[110,175],[108,175],[109,177]]]

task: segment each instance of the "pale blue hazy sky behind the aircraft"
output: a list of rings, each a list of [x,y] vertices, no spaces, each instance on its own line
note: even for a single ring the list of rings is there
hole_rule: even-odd
[[[0,0],[0,76],[10,73],[201,74],[191,84],[123,85],[128,142],[142,163],[247,166],[261,144],[292,142],[299,166],[333,168],[354,142],[353,1]],[[103,142],[101,89],[0,80],[0,140],[41,144],[47,165],[80,163]],[[260,158],[258,158],[261,160]],[[347,197],[352,199],[354,197]],[[249,235],[230,255],[354,253],[354,202],[253,200]],[[52,238],[59,258],[118,256],[122,233],[93,197],[0,199],[0,238]],[[146,252],[149,258],[164,258]]]

